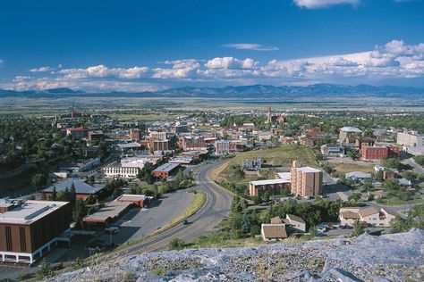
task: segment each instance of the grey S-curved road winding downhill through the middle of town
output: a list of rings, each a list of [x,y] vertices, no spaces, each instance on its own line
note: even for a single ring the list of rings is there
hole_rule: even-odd
[[[173,238],[186,241],[212,233],[216,224],[225,219],[230,212],[233,200],[233,193],[216,185],[209,178],[210,172],[224,163],[224,161],[218,161],[212,164],[201,164],[193,171],[193,178],[197,183],[196,190],[204,192],[207,199],[203,207],[188,219],[189,224],[179,224],[148,241],[126,248],[120,253],[156,252],[164,250]]]

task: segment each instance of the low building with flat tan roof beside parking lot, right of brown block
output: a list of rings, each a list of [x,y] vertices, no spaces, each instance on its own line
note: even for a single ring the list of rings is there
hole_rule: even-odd
[[[130,210],[132,205],[133,203],[131,202],[114,201],[106,203],[98,211],[86,216],[82,220],[84,222],[84,228],[92,230],[107,228]]]

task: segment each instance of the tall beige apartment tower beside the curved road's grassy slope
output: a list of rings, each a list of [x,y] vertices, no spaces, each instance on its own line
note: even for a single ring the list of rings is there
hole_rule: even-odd
[[[300,162],[293,162],[292,194],[299,196],[319,195],[322,188],[322,171],[310,167],[301,167]]]

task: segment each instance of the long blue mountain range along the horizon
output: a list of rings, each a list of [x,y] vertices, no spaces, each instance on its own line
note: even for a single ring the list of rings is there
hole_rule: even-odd
[[[369,85],[347,86],[336,84],[314,84],[307,87],[252,85],[241,87],[179,87],[157,92],[106,92],[86,93],[69,88],[55,88],[42,91],[13,91],[0,89],[0,97],[60,98],[84,97],[208,97],[240,99],[287,99],[307,97],[403,97],[424,98],[424,87],[374,87]]]

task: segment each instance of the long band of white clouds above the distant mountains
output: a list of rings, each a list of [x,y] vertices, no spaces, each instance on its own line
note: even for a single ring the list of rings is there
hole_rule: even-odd
[[[46,89],[72,87],[80,89],[142,91],[178,82],[225,84],[308,84],[374,83],[394,79],[424,81],[424,44],[407,45],[392,40],[384,46],[352,54],[270,60],[259,63],[252,58],[216,57],[210,60],[182,59],[159,62],[160,66],[111,68],[104,64],[88,68],[33,72],[32,77],[16,76],[1,87]],[[41,77],[42,76],[42,77]]]

